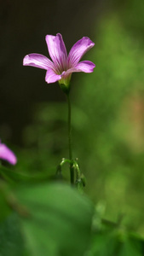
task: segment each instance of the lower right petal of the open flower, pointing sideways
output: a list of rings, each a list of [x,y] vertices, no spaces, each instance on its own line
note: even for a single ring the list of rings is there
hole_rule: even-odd
[[[75,67],[69,68],[65,73],[62,73],[63,76],[67,76],[70,73],[75,72],[84,72],[92,73],[94,71],[95,64],[91,61],[81,61]]]

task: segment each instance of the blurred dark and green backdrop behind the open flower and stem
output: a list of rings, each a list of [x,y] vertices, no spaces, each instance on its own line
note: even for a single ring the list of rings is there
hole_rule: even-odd
[[[68,49],[89,36],[95,47],[84,60],[95,62],[95,72],[72,75],[74,156],[97,212],[116,221],[123,216],[144,236],[144,2],[33,3],[3,3],[10,11],[2,16],[8,23],[2,23],[0,131],[13,143],[15,169],[53,176],[68,157],[65,97],[58,84],[45,84],[43,70],[22,67],[24,55],[48,55],[47,33],[61,32]]]

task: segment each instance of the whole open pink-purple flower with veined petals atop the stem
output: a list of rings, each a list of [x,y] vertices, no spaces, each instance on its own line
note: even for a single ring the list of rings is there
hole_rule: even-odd
[[[59,84],[68,84],[74,72],[92,73],[95,64],[91,61],[80,61],[83,55],[95,44],[87,37],[81,38],[72,46],[67,56],[66,46],[60,33],[56,36],[47,35],[46,43],[52,61],[44,55],[30,54],[23,60],[24,66],[39,67],[47,70],[45,81]]]

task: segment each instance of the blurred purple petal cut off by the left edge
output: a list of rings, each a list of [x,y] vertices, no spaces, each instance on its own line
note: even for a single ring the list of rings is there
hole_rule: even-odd
[[[0,140],[0,159],[7,160],[11,165],[15,165],[17,162],[14,153]]]

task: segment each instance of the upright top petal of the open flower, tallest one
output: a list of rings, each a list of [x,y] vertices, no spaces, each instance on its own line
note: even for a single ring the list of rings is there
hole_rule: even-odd
[[[56,36],[47,35],[45,40],[48,45],[49,55],[52,61],[54,61],[57,72],[62,73],[62,71],[66,70],[67,63],[66,46],[62,36],[60,33],[56,34]]]

